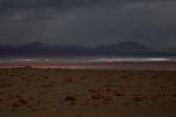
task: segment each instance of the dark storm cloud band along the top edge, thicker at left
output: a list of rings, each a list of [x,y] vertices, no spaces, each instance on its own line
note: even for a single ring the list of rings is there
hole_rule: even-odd
[[[102,2],[129,3],[129,2],[173,2],[174,0],[0,0],[0,9],[24,8],[72,8],[91,6]]]

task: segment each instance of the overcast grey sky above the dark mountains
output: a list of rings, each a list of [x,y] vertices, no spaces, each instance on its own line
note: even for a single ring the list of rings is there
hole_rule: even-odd
[[[0,0],[0,43],[176,47],[176,0]]]

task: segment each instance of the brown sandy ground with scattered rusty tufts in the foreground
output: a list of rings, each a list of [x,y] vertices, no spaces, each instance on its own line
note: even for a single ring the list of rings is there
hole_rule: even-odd
[[[0,117],[176,117],[176,71],[0,68]]]

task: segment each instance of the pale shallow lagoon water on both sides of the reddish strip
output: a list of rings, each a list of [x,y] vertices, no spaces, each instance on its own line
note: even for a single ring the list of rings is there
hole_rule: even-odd
[[[15,57],[0,59],[1,62],[33,62],[33,61],[62,61],[62,62],[160,62],[176,61],[176,57],[119,57],[119,56],[63,56],[63,57]],[[26,67],[23,65],[6,65],[0,67]],[[41,68],[106,68],[106,70],[168,70],[176,71],[176,65],[31,65]]]

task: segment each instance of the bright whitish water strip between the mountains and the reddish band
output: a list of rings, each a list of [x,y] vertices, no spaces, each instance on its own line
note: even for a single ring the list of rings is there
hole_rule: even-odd
[[[176,61],[176,56],[169,57],[134,57],[134,56],[59,56],[59,57],[3,57],[0,61],[96,61],[96,62],[148,62],[148,61]]]

